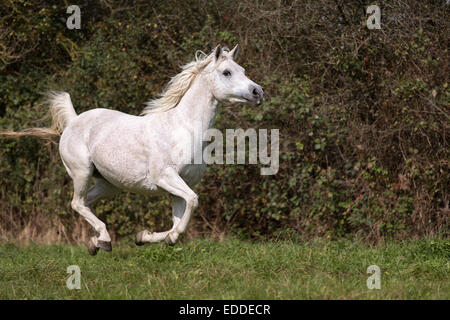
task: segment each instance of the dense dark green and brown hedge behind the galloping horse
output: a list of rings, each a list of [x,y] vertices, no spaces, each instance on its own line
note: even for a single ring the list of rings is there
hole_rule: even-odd
[[[68,91],[77,112],[139,114],[196,50],[239,43],[239,63],[267,98],[222,105],[216,127],[280,129],[280,170],[210,166],[191,234],[448,236],[446,1],[378,3],[380,30],[365,26],[370,1],[84,1],[81,30],[50,3],[0,8],[1,128],[36,125],[50,89]],[[56,150],[1,140],[3,237],[57,223],[74,239]],[[96,211],[119,237],[170,225],[168,197],[123,194]]]

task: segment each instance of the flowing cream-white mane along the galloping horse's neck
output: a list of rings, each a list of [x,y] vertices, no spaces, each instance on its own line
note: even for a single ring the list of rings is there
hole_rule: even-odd
[[[200,55],[198,55],[198,53],[200,53]],[[183,71],[170,79],[166,88],[160,94],[160,97],[146,103],[146,107],[142,110],[141,116],[175,108],[186,91],[189,90],[194,79],[212,61],[213,56],[213,53],[206,55],[201,51],[197,51],[195,61],[189,62],[181,67]]]

